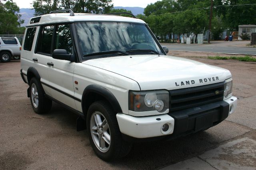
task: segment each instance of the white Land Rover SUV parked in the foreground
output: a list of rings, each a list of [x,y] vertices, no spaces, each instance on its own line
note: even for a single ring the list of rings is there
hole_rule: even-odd
[[[236,110],[230,71],[166,52],[142,20],[60,10],[26,26],[20,73],[36,113],[56,101],[78,114],[78,130],[110,160],[133,142],[206,130]]]

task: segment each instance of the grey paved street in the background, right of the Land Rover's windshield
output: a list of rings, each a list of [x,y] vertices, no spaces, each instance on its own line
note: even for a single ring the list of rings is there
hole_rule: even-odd
[[[218,42],[217,42],[218,43]],[[232,43],[232,42],[231,42]],[[250,42],[248,42],[250,43]],[[200,52],[214,52],[214,53],[229,53],[229,54],[246,54],[246,55],[256,55],[256,48],[253,47],[237,47],[228,46],[230,42],[220,42],[221,45],[213,44],[175,44],[164,46],[168,47],[169,50],[175,51],[200,51]]]

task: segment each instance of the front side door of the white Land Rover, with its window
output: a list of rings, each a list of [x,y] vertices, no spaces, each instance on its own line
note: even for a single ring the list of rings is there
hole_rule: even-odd
[[[56,25],[52,43],[52,51],[54,49],[66,49],[68,53],[74,53],[70,24]],[[76,63],[52,57],[49,57],[48,62],[51,64],[48,65],[48,77],[52,97],[76,109],[73,83],[74,65]]]

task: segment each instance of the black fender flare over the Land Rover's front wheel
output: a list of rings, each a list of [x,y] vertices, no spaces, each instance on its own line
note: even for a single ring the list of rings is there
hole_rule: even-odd
[[[106,89],[100,85],[88,85],[84,89],[84,92],[82,95],[82,101],[81,101],[82,111],[83,111],[84,115],[87,114],[88,108],[84,107],[83,103],[86,101],[86,98],[90,98],[90,93],[96,93],[96,94],[104,97],[108,101],[108,103],[112,106],[112,108],[114,109],[114,111],[116,113],[122,112],[122,109],[121,109],[116,97],[108,89]]]

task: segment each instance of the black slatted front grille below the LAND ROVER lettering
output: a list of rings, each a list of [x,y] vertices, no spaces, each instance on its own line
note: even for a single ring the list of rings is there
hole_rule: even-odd
[[[170,90],[170,111],[206,105],[223,100],[224,83]]]

